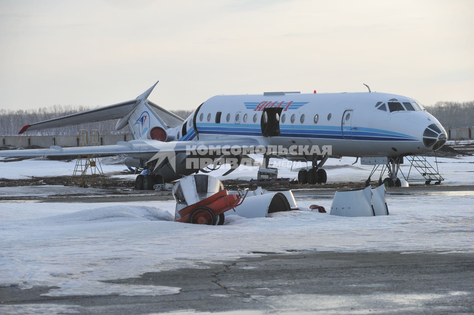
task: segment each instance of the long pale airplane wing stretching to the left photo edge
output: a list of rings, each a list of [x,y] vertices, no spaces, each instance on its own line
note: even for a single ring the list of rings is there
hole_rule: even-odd
[[[244,146],[257,146],[259,145],[259,143],[253,138],[221,138],[215,140],[171,142],[161,142],[156,140],[132,140],[129,142],[119,141],[117,144],[114,145],[85,146],[72,148],[62,148],[60,146],[53,145],[49,149],[6,150],[0,151],[0,156],[58,156],[89,154],[149,155],[153,153],[186,153],[190,148],[212,148],[223,145],[230,145],[242,148]]]

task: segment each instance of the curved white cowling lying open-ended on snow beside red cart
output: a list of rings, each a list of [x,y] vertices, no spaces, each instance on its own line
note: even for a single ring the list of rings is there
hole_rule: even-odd
[[[237,215],[246,218],[266,217],[268,214],[280,211],[291,211],[290,203],[281,192],[264,193],[246,197],[234,211],[224,213],[225,216]]]

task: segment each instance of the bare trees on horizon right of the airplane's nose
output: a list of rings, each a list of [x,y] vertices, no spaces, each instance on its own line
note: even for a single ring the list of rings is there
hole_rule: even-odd
[[[441,125],[447,127],[473,127],[474,101],[469,102],[437,102],[425,109],[438,118]]]

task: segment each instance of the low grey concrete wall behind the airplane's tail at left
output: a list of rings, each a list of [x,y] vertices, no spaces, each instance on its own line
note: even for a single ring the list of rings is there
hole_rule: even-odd
[[[62,147],[79,146],[79,137],[77,135],[12,135],[0,136],[1,143],[19,147],[37,145],[42,148],[49,148],[51,145]],[[132,140],[130,134],[125,135],[100,135],[99,145],[117,144],[118,141]],[[91,145],[91,137],[88,137],[88,145]]]

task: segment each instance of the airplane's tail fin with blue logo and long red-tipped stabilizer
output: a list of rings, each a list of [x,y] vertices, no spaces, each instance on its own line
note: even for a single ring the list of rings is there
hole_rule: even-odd
[[[129,125],[133,137],[137,139],[146,133],[150,127],[160,126],[164,129],[168,129],[169,127],[180,125],[183,121],[180,117],[147,101],[148,96],[157,83],[158,81],[136,99],[25,125],[18,134],[22,134],[26,131],[73,126],[120,118],[116,129],[120,130]],[[160,118],[160,116],[162,116],[163,119]]]

